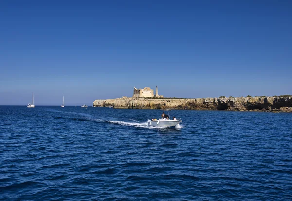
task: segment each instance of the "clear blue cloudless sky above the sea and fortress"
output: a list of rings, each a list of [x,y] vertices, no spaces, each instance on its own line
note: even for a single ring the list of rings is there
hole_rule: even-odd
[[[292,94],[291,0],[2,0],[0,105]]]

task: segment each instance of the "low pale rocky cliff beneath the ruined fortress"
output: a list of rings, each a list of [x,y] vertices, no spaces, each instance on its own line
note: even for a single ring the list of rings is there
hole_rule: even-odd
[[[94,107],[131,109],[253,110],[292,112],[292,97],[230,97],[196,99],[118,98],[95,100]]]

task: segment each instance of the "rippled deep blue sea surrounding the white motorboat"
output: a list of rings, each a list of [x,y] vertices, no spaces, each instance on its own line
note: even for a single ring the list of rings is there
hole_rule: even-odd
[[[0,200],[292,200],[292,113],[0,106]]]

